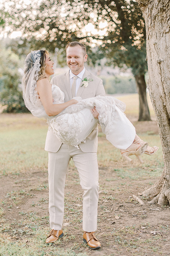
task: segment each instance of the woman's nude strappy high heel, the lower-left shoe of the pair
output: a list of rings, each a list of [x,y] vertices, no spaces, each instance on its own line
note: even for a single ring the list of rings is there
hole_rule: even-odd
[[[143,163],[143,160],[140,158],[140,155],[142,155],[145,150],[147,149],[148,147],[148,143],[147,142],[144,142],[142,145],[140,144],[140,147],[137,149],[137,146],[139,145],[139,143],[136,143],[136,141],[132,144],[136,144],[135,145],[135,150],[128,150],[128,149],[121,149],[120,150],[120,153],[121,155],[128,161],[132,161],[131,158],[129,158],[130,155],[135,155],[137,157],[137,160],[142,164]],[[123,151],[123,153],[122,153]]]

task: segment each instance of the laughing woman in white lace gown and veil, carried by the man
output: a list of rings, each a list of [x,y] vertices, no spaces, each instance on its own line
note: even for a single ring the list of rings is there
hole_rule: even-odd
[[[49,82],[54,74],[53,62],[46,50],[32,51],[27,55],[22,79],[23,98],[26,107],[36,117],[47,119],[50,129],[63,143],[78,147],[85,143],[99,121],[107,140],[120,149],[124,158],[132,161],[129,155],[135,155],[143,162],[140,155],[153,155],[158,147],[150,147],[143,142],[135,127],[126,118],[125,104],[111,96],[86,98],[74,97],[64,102],[64,93]],[[99,113],[94,118],[91,111]],[[122,139],[122,136],[126,139]],[[124,138],[123,137],[123,138]]]

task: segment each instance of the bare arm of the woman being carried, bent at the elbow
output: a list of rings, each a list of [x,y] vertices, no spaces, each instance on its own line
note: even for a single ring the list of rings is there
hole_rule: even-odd
[[[48,79],[40,79],[37,81],[36,90],[48,116],[56,116],[64,110],[64,108],[78,102],[77,100],[70,100],[61,104],[53,104],[51,84]]]

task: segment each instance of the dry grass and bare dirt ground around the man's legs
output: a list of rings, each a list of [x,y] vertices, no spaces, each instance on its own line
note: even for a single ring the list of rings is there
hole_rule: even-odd
[[[0,256],[166,256],[170,255],[169,206],[148,204],[140,193],[161,175],[163,156],[154,112],[150,122],[137,122],[138,95],[118,97],[137,134],[159,146],[153,156],[132,156],[129,164],[120,151],[98,135],[100,198],[97,238],[93,251],[82,239],[82,190],[70,162],[66,182],[64,237],[46,245],[49,228],[48,155],[44,151],[47,124],[31,114],[0,114]],[[149,99],[148,99],[149,101]],[[141,206],[132,195],[145,203]]]

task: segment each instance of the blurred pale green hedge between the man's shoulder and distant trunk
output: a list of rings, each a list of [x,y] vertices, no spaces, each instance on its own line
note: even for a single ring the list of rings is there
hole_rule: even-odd
[[[136,82],[133,76],[100,76],[106,94],[136,93]]]

